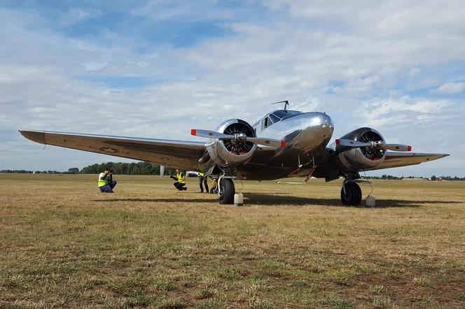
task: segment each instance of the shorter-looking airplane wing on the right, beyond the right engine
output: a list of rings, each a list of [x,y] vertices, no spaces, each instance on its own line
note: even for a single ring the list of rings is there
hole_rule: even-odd
[[[365,171],[373,171],[382,168],[393,168],[400,166],[416,165],[422,162],[433,161],[443,157],[447,157],[447,154],[435,154],[435,153],[405,153],[405,152],[387,152],[386,159],[381,164],[374,168],[368,168]]]

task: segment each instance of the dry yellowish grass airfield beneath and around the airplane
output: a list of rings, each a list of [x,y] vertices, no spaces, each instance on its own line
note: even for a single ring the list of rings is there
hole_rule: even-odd
[[[114,178],[0,174],[0,308],[465,308],[465,182]]]

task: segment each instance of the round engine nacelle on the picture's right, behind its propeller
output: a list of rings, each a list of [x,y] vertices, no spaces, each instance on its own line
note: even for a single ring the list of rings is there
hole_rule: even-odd
[[[340,139],[349,139],[352,141],[375,142],[383,141],[381,134],[375,129],[360,128],[356,129]],[[338,145],[335,149],[338,153],[338,164],[345,171],[360,171],[363,169],[373,168],[384,161],[386,151],[381,148],[352,148]]]

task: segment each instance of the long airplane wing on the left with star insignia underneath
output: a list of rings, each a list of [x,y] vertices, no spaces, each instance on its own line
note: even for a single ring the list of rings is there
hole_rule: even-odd
[[[191,141],[54,131],[20,131],[20,133],[36,143],[149,161],[186,170],[198,170],[197,161],[206,151],[205,143]]]

